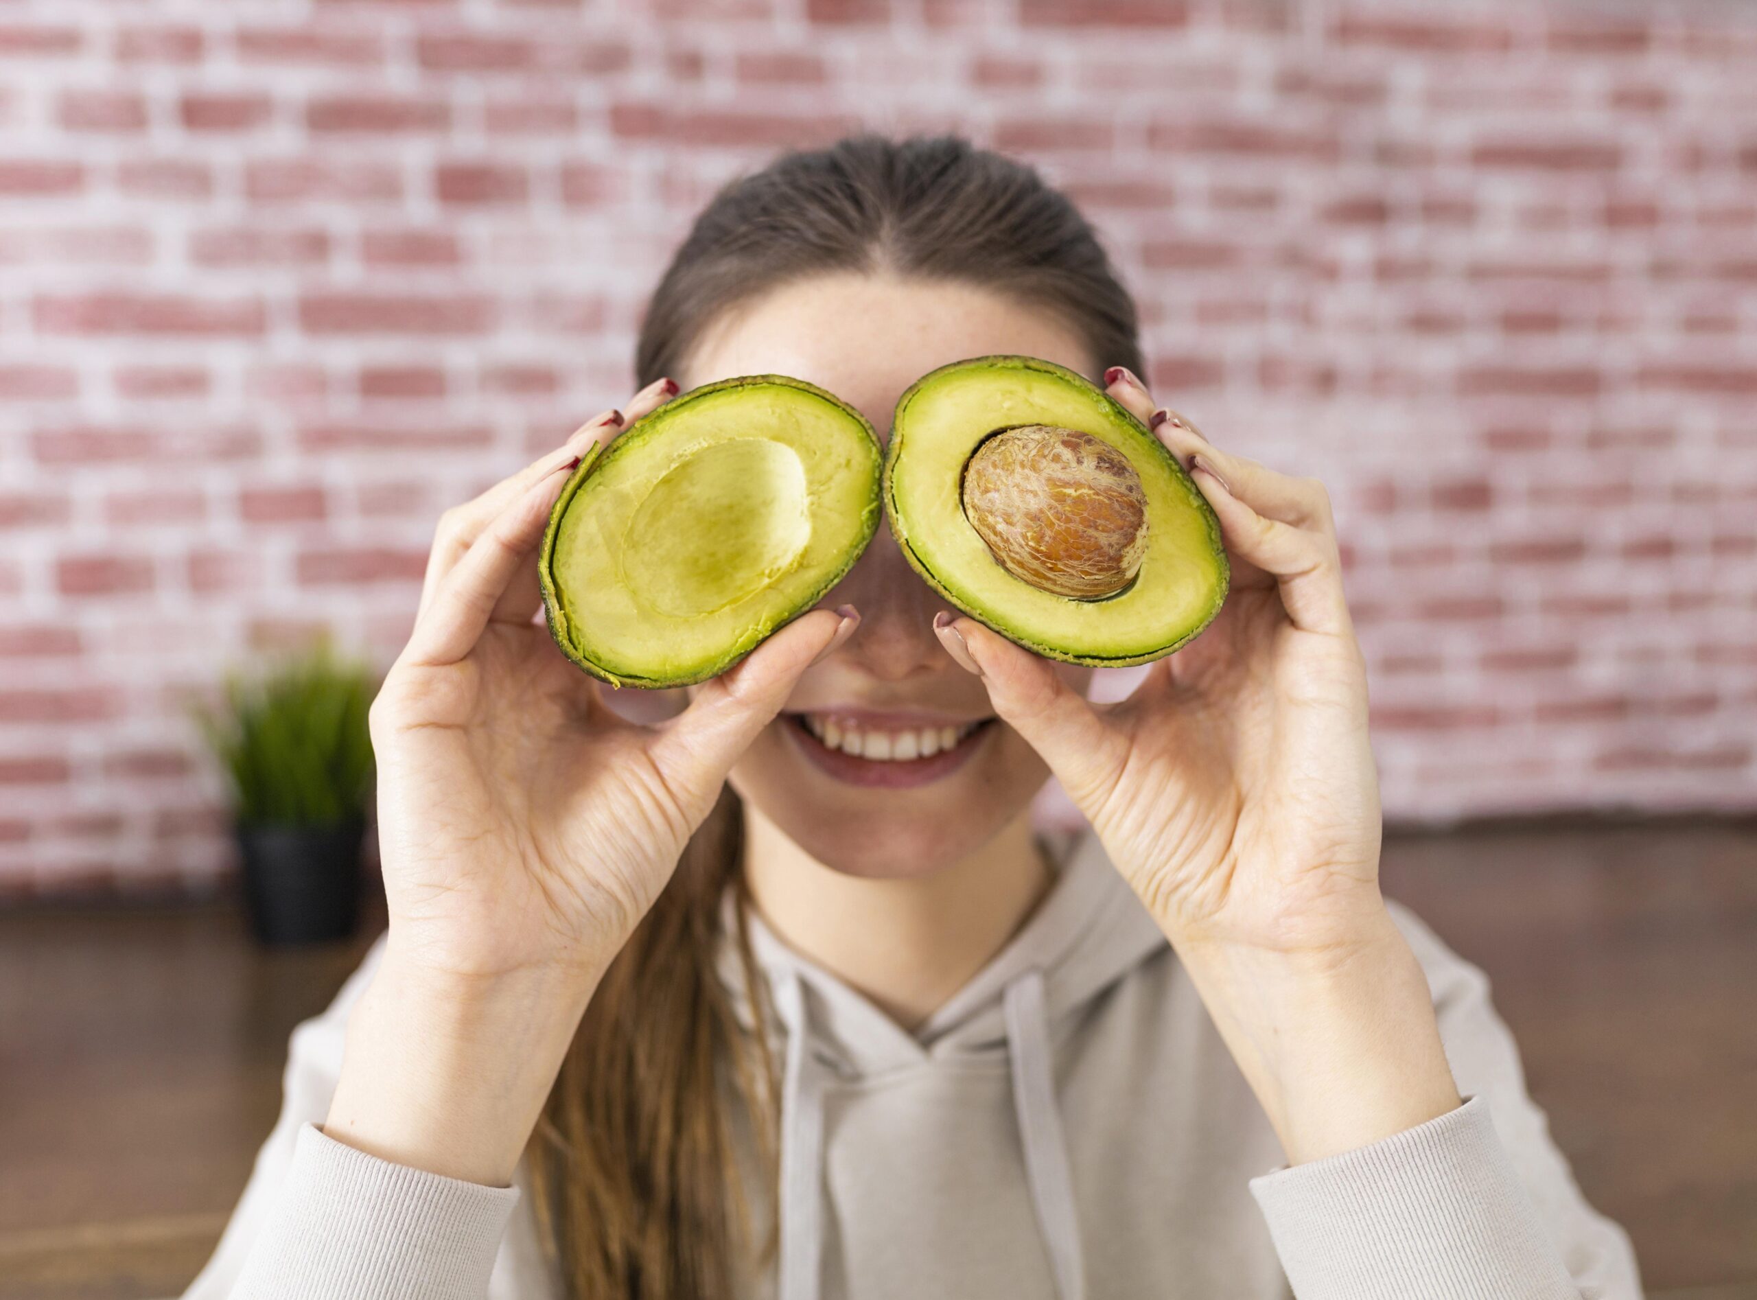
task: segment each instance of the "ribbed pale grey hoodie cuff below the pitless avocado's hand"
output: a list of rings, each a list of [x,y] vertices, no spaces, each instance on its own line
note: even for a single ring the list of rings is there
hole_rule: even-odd
[[[234,1300],[483,1300],[515,1188],[394,1165],[304,1124]]]

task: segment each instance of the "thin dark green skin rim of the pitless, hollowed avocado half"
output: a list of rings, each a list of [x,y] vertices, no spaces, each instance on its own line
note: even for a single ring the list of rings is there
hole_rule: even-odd
[[[828,578],[819,587],[815,587],[808,596],[801,597],[799,606],[792,613],[777,620],[775,625],[770,627],[763,638],[745,646],[743,650],[733,650],[715,666],[703,669],[699,673],[685,676],[617,675],[611,673],[608,668],[592,662],[580,650],[580,646],[575,645],[573,638],[568,632],[568,610],[562,606],[560,592],[555,587],[555,573],[553,573],[555,538],[560,532],[562,515],[568,513],[568,506],[573,501],[575,494],[585,485],[585,481],[597,469],[603,469],[603,466],[608,464],[613,457],[627,455],[629,450],[638,448],[647,439],[647,436],[652,434],[654,429],[659,429],[662,422],[655,420],[655,416],[675,413],[682,404],[692,402],[699,397],[706,397],[708,394],[724,392],[727,388],[750,388],[754,385],[770,385],[770,386],[782,385],[785,388],[798,388],[799,392],[812,394],[813,397],[821,397],[826,402],[835,404],[850,420],[857,422],[859,427],[866,430],[866,437],[871,439],[873,450],[875,451],[878,450],[880,446],[878,434],[873,430],[871,422],[866,420],[866,416],[863,416],[859,411],[856,411],[852,406],[843,402],[835,394],[824,392],[817,385],[806,383],[805,379],[794,379],[785,374],[743,374],[734,379],[720,379],[717,383],[708,383],[699,388],[691,388],[687,394],[680,394],[664,406],[648,411],[633,425],[629,425],[625,430],[617,434],[617,437],[610,439],[608,450],[603,443],[594,443],[592,448],[580,457],[580,464],[575,467],[573,474],[568,476],[568,483],[562,487],[560,495],[555,499],[555,506],[550,509],[548,525],[543,529],[543,545],[538,550],[538,583],[543,587],[543,615],[545,620],[548,622],[550,638],[555,641],[557,646],[560,646],[560,652],[568,655],[568,659],[571,659],[575,664],[578,664],[587,673],[596,676],[599,682],[608,682],[610,685],[618,689],[643,687],[648,690],[659,690],[664,687],[691,687],[696,685],[698,682],[706,682],[708,678],[719,676],[720,673],[733,668],[733,664],[736,664],[740,659],[756,650],[759,645],[763,645],[764,639],[778,632],[782,627],[791,624],[799,615],[810,611],[821,599],[824,599],[824,592],[828,592],[831,587],[842,581],[843,576],[847,576],[849,569],[854,567],[854,562],[859,560],[861,553],[864,553],[866,546],[871,543],[873,534],[878,531],[880,506],[875,495],[873,501],[868,502],[866,509],[863,511],[859,543],[849,550],[840,567],[836,567],[835,573],[828,574]]]

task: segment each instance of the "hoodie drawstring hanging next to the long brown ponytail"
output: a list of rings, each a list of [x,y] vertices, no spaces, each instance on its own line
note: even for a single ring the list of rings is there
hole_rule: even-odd
[[[824,1068],[810,1049],[805,984],[789,970],[775,989],[787,1026],[780,1096],[780,1279],[777,1300],[817,1300],[824,1210]]]

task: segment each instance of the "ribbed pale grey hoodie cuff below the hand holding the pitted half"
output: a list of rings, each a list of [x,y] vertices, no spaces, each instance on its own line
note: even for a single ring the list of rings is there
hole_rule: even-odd
[[[1251,1195],[1298,1300],[1580,1300],[1481,1098]]]

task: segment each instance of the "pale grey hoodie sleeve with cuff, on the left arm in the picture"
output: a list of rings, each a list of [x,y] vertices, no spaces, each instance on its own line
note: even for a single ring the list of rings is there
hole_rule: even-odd
[[[488,1295],[518,1191],[394,1165],[320,1128],[341,1077],[348,1014],[381,952],[383,940],[329,1008],[293,1029],[281,1116],[213,1258],[183,1300]]]

